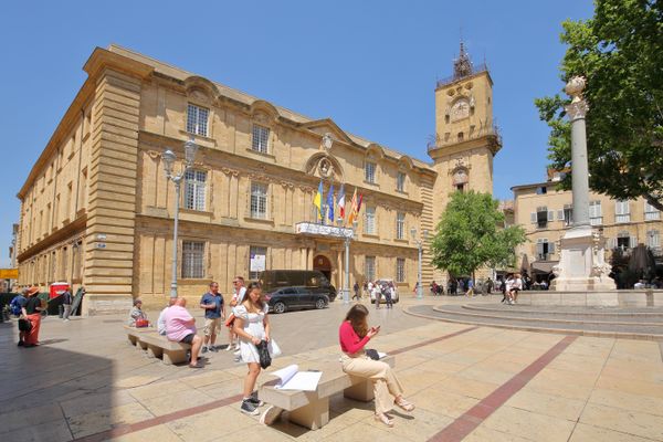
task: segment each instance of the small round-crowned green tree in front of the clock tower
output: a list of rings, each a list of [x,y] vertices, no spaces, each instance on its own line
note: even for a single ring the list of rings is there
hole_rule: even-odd
[[[513,265],[515,248],[525,242],[519,225],[504,227],[504,213],[490,193],[454,192],[435,228],[432,264],[452,275],[483,265]]]

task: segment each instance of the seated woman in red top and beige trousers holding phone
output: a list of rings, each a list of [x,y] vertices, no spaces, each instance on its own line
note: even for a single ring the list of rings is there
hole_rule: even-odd
[[[393,403],[406,411],[414,410],[414,404],[403,398],[403,389],[388,364],[369,358],[364,351],[368,341],[380,332],[380,326],[368,328],[368,309],[355,304],[338,329],[343,356],[343,371],[348,375],[370,379],[376,397],[376,420],[387,427],[393,427],[393,420],[387,414]]]

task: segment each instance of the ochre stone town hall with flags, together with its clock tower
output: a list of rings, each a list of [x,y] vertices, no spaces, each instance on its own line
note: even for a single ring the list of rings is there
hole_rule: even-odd
[[[87,80],[19,191],[17,250],[21,284],[84,285],[86,314],[126,309],[136,296],[159,305],[168,297],[175,189],[161,154],[182,159],[189,138],[200,148],[180,200],[185,296],[199,296],[210,281],[229,293],[234,275],[254,278],[261,267],[320,270],[343,287],[343,241],[295,230],[316,222],[320,180],[325,192],[345,185],[348,206],[355,189],[364,196],[350,285],[391,277],[411,293],[410,230],[432,233],[451,191],[492,191],[499,148],[492,81],[462,48],[454,76],[435,90],[432,162],[119,46],[95,49],[84,70]],[[444,278],[428,245],[424,284]]]

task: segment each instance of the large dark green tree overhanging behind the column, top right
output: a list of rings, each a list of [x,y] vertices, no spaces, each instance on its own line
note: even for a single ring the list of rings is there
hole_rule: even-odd
[[[590,187],[615,199],[643,197],[663,210],[663,6],[659,0],[594,0],[594,17],[566,21],[561,80],[587,78]],[[549,156],[571,168],[570,125],[560,95],[535,101],[551,128]],[[562,181],[570,187],[570,177]]]

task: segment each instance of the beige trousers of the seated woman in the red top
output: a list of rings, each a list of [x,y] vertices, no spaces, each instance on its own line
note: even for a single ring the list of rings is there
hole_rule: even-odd
[[[390,411],[393,408],[393,399],[402,396],[403,388],[388,364],[372,360],[366,355],[356,358],[343,355],[340,361],[346,373],[367,378],[373,382],[376,413]]]

